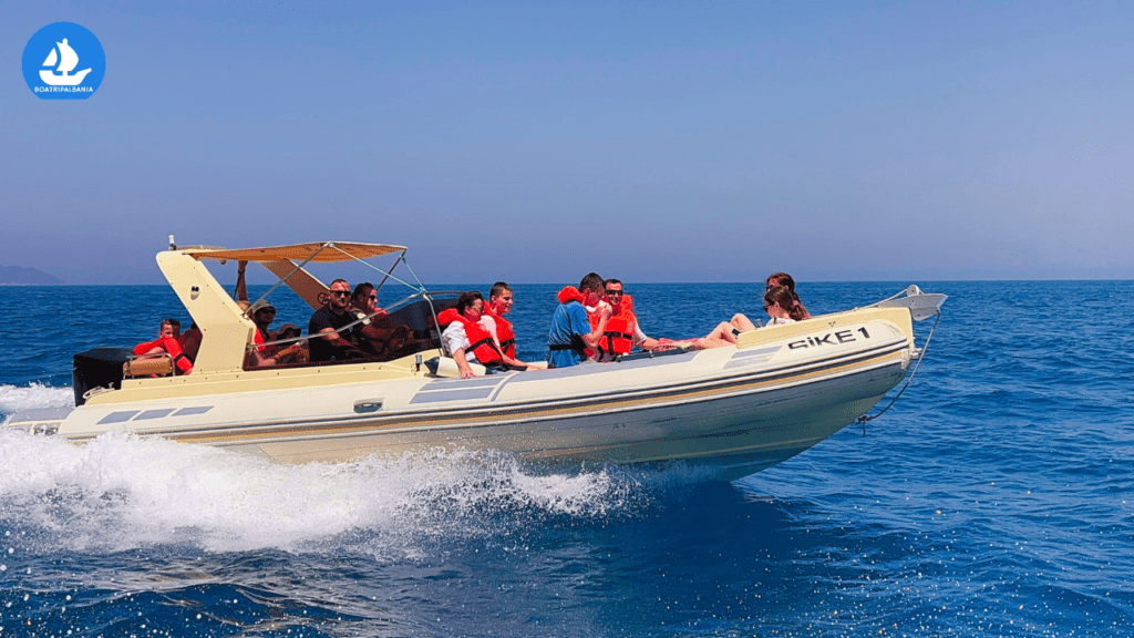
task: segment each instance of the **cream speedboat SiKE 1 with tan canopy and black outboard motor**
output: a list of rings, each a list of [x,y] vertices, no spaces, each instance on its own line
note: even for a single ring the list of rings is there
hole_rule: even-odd
[[[319,309],[328,286],[310,265],[391,254],[392,268],[374,268],[411,288],[388,310],[412,338],[397,352],[324,363],[256,366],[255,325],[206,268],[259,263],[279,277],[261,299],[287,286]],[[920,362],[913,322],[939,318],[946,299],[911,286],[870,307],[741,333],[726,347],[463,379],[438,331],[452,299],[395,276],[405,254],[349,242],[171,243],[156,261],[201,330],[192,373],[176,375],[168,358],[98,349],[75,356],[74,408],[17,412],[3,426],[75,443],[125,429],[286,463],[442,447],[556,463],[682,460],[743,476],[865,418]],[[293,341],[304,338],[318,337]]]

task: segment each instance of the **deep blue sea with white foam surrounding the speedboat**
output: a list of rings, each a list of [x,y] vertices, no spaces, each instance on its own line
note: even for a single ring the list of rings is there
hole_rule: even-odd
[[[822,313],[909,283],[949,300],[894,408],[735,482],[0,431],[0,638],[1134,635],[1134,282],[798,293]],[[626,287],[655,337],[761,316],[762,284]],[[516,286],[522,359],[558,288]],[[68,405],[74,352],[187,320],[159,286],[0,287],[0,413]]]

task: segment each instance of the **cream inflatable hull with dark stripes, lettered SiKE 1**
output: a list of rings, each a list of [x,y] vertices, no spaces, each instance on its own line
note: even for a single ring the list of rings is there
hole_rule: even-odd
[[[738,346],[473,379],[381,364],[146,380],[8,426],[76,442],[121,428],[287,463],[443,447],[550,463],[684,460],[743,476],[831,436],[903,379],[907,311],[822,319]]]

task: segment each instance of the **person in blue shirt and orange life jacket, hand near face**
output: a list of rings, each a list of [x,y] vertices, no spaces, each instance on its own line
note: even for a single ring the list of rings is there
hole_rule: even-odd
[[[551,316],[548,333],[549,368],[577,366],[590,359],[587,350],[598,350],[610,320],[610,305],[599,303],[604,291],[602,277],[591,272],[583,277],[578,288],[567,286],[559,292],[559,307]],[[596,308],[593,326],[584,305]]]

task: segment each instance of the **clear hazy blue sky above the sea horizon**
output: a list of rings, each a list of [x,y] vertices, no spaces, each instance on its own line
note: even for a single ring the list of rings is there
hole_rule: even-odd
[[[24,82],[54,22],[105,51],[87,100]],[[0,265],[159,284],[174,234],[400,244],[426,283],[1131,279],[1132,61],[1131,2],[0,0]]]

